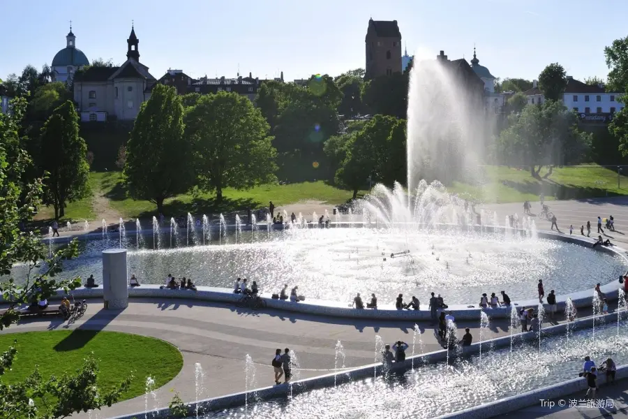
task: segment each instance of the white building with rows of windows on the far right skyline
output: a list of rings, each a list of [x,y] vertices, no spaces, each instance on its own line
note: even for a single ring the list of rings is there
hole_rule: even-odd
[[[532,82],[532,89],[524,91],[528,96],[528,103],[538,104],[545,101],[545,96],[537,86],[537,80]],[[612,115],[624,108],[624,104],[617,101],[622,96],[619,92],[607,92],[601,85],[591,85],[567,76],[567,86],[562,96],[562,102],[567,109],[578,113],[585,122],[610,122]]]

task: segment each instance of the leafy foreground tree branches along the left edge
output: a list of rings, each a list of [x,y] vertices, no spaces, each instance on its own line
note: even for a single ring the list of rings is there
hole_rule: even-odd
[[[0,242],[4,247],[0,252],[0,293],[9,302],[8,309],[0,314],[0,330],[20,318],[16,307],[49,298],[59,289],[68,292],[81,284],[80,278],[54,279],[62,270],[62,260],[77,256],[77,240],[48,256],[47,247],[38,238],[18,227],[31,221],[43,187],[41,179],[22,183],[24,168],[29,165],[26,152],[20,150],[10,164],[7,160],[6,147],[19,143],[25,108],[26,102],[17,100],[13,103],[13,115],[0,114]],[[19,284],[11,271],[18,263],[27,271]],[[98,387],[98,365],[88,358],[75,374],[44,378],[35,369],[24,380],[8,385],[2,376],[13,366],[16,355],[15,346],[0,353],[0,419],[61,419],[105,404],[111,406],[128,389],[131,379],[128,377],[117,388],[105,392]]]

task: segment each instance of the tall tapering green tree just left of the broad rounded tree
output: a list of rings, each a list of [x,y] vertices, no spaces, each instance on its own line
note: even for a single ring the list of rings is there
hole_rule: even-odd
[[[184,140],[184,108],[174,87],[157,84],[142,103],[126,145],[124,177],[133,199],[157,205],[193,184],[192,148]]]

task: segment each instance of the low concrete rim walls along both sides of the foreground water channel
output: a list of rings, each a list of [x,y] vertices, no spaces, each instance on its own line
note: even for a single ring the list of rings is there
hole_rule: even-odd
[[[611,313],[606,314],[604,316],[598,316],[596,321],[597,323],[601,321],[606,321],[606,323],[610,323],[611,321],[616,320],[617,314]],[[583,329],[589,328],[592,325],[592,317],[581,318],[573,323],[571,323],[571,328],[574,329]],[[567,329],[567,324],[562,323],[560,325],[551,326],[548,328],[544,328],[544,336],[553,336],[553,335],[562,335],[565,333]],[[517,339],[523,339],[524,341],[533,341],[536,339],[536,334],[534,333],[518,333],[514,335]],[[510,337],[498,337],[495,339],[489,339],[481,342],[481,345],[486,348],[504,348],[510,345]],[[474,355],[479,352],[480,343],[476,342],[468,347],[463,347],[463,356]],[[414,355],[414,357],[408,357],[405,362],[400,364],[395,364],[393,370],[396,372],[404,372],[405,370],[411,369],[412,365],[421,365],[421,363],[435,363],[435,362],[443,362],[447,359],[447,351],[434,351],[430,353],[425,353],[421,355]],[[620,373],[621,371],[621,373]],[[305,380],[294,381],[292,383],[292,387],[290,385],[274,385],[273,387],[260,388],[254,390],[254,393],[257,399],[262,400],[262,402],[275,399],[278,397],[285,397],[287,394],[292,391],[293,395],[299,394],[301,392],[307,392],[310,390],[316,390],[318,388],[329,388],[334,385],[347,383],[348,381],[355,381],[364,378],[370,378],[373,376],[381,376],[384,374],[384,367],[381,363],[364,365],[362,367],[357,367],[353,369],[349,369],[343,372],[339,372],[338,374],[326,374],[324,376],[318,376],[315,378],[308,378]],[[618,367],[618,379],[628,377],[628,365]],[[578,392],[583,390],[586,387],[586,381],[583,378],[576,378],[574,380],[565,381],[562,383],[557,383],[555,385],[551,385],[545,388],[539,388],[536,390],[532,390],[530,392],[523,393],[522,395],[517,395],[514,397],[507,397],[504,399],[497,400],[495,402],[490,402],[486,404],[481,404],[479,406],[475,406],[471,409],[465,409],[465,411],[458,411],[449,414],[448,416],[444,416],[444,418],[490,418],[493,416],[501,416],[504,413],[508,413],[511,411],[516,411],[518,409],[523,409],[524,407],[531,406],[532,404],[538,403],[539,399],[552,399],[555,397],[562,397],[573,392]],[[539,395],[542,395],[539,397]],[[204,399],[200,400],[196,403],[188,405],[188,413],[190,416],[196,411],[196,405],[199,406],[199,412],[207,413],[207,411],[220,411],[223,409],[230,409],[238,406],[244,406],[246,399],[246,392],[234,393],[232,395],[226,395],[223,397],[214,397],[212,399]],[[493,407],[495,406],[495,407]],[[144,412],[133,413],[124,416],[117,416],[112,419],[133,419],[140,418],[144,415]],[[168,418],[170,415],[170,411],[167,408],[158,409],[156,411],[155,418]]]

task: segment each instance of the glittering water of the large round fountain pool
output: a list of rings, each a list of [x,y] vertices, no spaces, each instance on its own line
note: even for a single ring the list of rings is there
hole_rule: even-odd
[[[185,230],[184,230],[185,232]],[[185,233],[183,233],[185,235]],[[63,277],[94,274],[100,281],[100,251],[119,247],[113,240],[92,240],[81,256],[64,262]],[[170,236],[162,233],[162,245]],[[131,237],[132,236],[132,237]],[[133,238],[133,240],[130,240]],[[627,269],[620,257],[558,240],[526,239],[474,230],[404,231],[390,228],[306,228],[244,231],[237,238],[213,237],[212,245],[135,249],[135,235],[123,241],[129,249],[128,270],[147,284],[163,284],[167,274],[188,277],[197,285],[232,287],[237,277],[257,281],[264,292],[283,284],[299,286],[306,297],[349,302],[359,292],[377,295],[380,303],[430,292],[449,304],[477,304],[481,293],[506,291],[512,300],[537,296],[543,279],[546,293],[558,295],[607,283]],[[144,237],[149,246],[152,237]],[[197,239],[198,241],[198,239]],[[179,238],[186,242],[186,238]],[[192,242],[190,238],[190,242]],[[396,254],[391,258],[391,253]],[[17,277],[20,267],[16,267]]]

